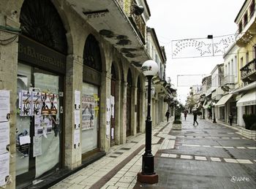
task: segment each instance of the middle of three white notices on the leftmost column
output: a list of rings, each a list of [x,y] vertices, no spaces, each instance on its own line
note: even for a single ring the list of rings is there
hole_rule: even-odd
[[[10,123],[0,123],[0,154],[7,153],[10,145]]]

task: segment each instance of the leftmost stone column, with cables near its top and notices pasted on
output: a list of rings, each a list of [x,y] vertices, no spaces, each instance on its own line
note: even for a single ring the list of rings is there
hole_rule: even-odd
[[[2,15],[7,2],[0,3],[2,12],[0,12],[0,24],[12,28],[20,28],[17,18],[8,15]],[[7,8],[7,7],[6,7]],[[10,7],[9,7],[10,8]],[[11,12],[8,12],[11,14]],[[18,69],[18,34],[8,31],[0,31],[1,39],[10,39],[0,45],[0,90],[10,90],[10,183],[6,188],[15,188],[15,153],[16,153],[16,101],[17,101],[17,69]],[[16,38],[15,38],[16,37]],[[14,39],[12,41],[12,39]]]

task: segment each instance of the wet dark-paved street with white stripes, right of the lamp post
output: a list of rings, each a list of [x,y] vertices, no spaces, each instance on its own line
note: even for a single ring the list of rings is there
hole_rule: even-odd
[[[174,148],[158,150],[157,188],[255,188],[256,142],[208,120],[193,126],[192,119],[183,117],[182,130],[168,134]]]

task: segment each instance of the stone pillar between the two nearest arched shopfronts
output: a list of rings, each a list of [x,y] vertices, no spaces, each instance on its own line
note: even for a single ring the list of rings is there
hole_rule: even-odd
[[[78,55],[67,56],[67,72],[65,80],[65,166],[75,169],[81,164],[81,139],[79,147],[74,145],[75,132],[75,90],[82,91],[83,58]],[[80,123],[81,123],[80,109]],[[80,124],[81,125],[81,124]],[[81,128],[80,128],[81,136]]]

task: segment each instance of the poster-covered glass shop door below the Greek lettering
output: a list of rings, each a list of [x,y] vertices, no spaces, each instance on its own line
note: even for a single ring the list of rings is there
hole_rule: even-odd
[[[59,91],[63,91],[62,86],[63,77],[18,63],[17,188],[31,184],[32,180],[60,166],[63,97]],[[31,99],[24,100],[23,93],[31,94]],[[43,112],[45,106],[48,107],[46,113]],[[25,114],[26,107],[29,110]]]

